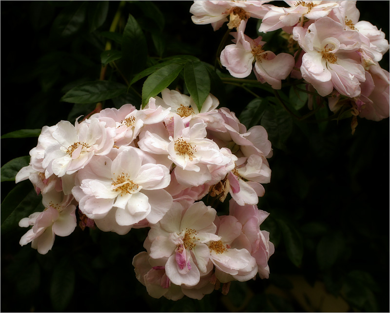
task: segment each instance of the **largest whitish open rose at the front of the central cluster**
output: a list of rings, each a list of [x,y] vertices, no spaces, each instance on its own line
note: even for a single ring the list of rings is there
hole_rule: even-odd
[[[95,157],[78,172],[72,190],[82,213],[106,231],[117,226],[129,231],[144,218],[156,223],[170,209],[172,196],[163,190],[170,182],[169,170],[155,162],[134,147],[121,147],[114,160]]]

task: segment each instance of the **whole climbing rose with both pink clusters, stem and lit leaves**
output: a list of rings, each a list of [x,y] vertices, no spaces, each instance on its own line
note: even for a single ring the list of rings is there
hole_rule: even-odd
[[[20,220],[20,227],[29,228],[20,245],[31,243],[48,254],[56,236],[72,235],[77,227],[118,235],[148,229],[145,251],[135,253],[132,264],[154,298],[202,299],[220,284],[227,294],[232,281],[269,278],[275,250],[262,229],[269,213],[261,210],[259,197],[271,181],[273,134],[258,123],[246,126],[254,118],[248,117],[252,108],[241,114],[245,125],[221,106],[213,83],[243,79],[242,92],[258,100],[250,88],[255,86],[273,95],[255,102],[257,109],[277,105],[300,120],[329,110],[329,120],[350,120],[352,134],[358,117],[389,117],[389,72],[378,63],[389,50],[385,34],[359,21],[355,1],[285,2],[278,7],[272,1],[194,1],[189,11],[195,24],[226,28],[216,51],[219,67],[182,55],[147,67],[138,34],[133,39],[145,56],[138,59],[141,67],[135,62],[132,71],[121,73],[131,77],[126,85],[106,80],[105,73],[136,50],[124,45],[118,54],[114,37],[107,35],[101,79],[62,98],[97,103],[95,110],[74,123],[44,126],[29,164],[15,175],[16,183],[31,181],[44,207]],[[248,35],[253,20],[255,38]],[[140,28],[130,15],[123,39],[132,30]],[[264,40],[275,31],[286,42],[284,52]],[[114,98],[107,96],[113,84],[111,89],[126,93],[142,80],[139,105],[104,108]],[[283,95],[286,86],[306,97],[305,108]],[[93,94],[93,88],[102,92]],[[300,115],[301,109],[309,112]]]

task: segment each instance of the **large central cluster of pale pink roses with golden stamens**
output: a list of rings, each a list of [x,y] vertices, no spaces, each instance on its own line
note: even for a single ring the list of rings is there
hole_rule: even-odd
[[[268,278],[274,248],[257,203],[271,177],[271,142],[262,126],[247,130],[218,105],[209,94],[199,111],[165,89],[139,110],[125,104],[43,127],[16,182],[29,179],[45,210],[20,220],[32,226],[20,244],[46,254],[56,235],[75,230],[78,210],[83,229],[150,228],[133,265],[153,297],[200,299],[220,283],[227,293],[232,280]],[[229,215],[205,196],[229,197]]]

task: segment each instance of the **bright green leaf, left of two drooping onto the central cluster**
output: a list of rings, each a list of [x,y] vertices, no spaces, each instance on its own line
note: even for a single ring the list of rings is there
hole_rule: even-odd
[[[146,78],[142,86],[142,107],[148,103],[149,98],[155,97],[161,90],[167,88],[179,75],[182,68],[183,64],[169,64]]]

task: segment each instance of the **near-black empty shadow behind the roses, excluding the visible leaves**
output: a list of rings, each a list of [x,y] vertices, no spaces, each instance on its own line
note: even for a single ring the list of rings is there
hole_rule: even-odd
[[[110,1],[107,20],[98,31],[109,29],[117,4]],[[214,64],[225,28],[214,32],[210,25],[193,24],[192,1],[155,4],[165,16],[164,56],[192,54]],[[87,23],[71,38],[59,38],[53,31],[54,20],[69,5],[1,1],[1,135],[74,119],[72,104],[60,98],[78,81],[98,79],[105,39],[90,33]],[[382,28],[389,40],[389,2],[358,1],[357,7],[360,20]],[[127,3],[125,12],[147,29],[136,3]],[[148,40],[150,55],[156,55]],[[389,53],[381,65],[389,70]],[[238,87],[226,86],[225,94],[222,105],[237,116],[253,98]],[[20,247],[26,229],[16,226],[1,233],[1,311],[56,311],[51,289],[62,273],[59,268],[66,268],[71,278],[65,275],[64,283],[75,282],[66,312],[301,312],[307,309],[295,293],[300,292],[300,278],[312,285],[324,283],[327,293],[344,299],[349,312],[388,312],[389,118],[359,118],[358,123],[353,136],[348,119],[322,128],[309,124],[309,137],[294,123],[284,149],[274,147],[269,160],[272,180],[259,202],[260,209],[271,213],[262,228],[271,232],[276,246],[269,280],[232,283],[228,296],[215,291],[202,301],[157,300],[147,295],[131,265],[133,256],[144,250],[147,230],[119,236],[77,228],[69,237],[57,236],[53,250],[40,255],[30,245]],[[36,144],[36,137],[1,139],[1,166],[28,155]],[[14,186],[1,182],[1,200]],[[289,242],[279,219],[288,221],[302,240],[299,267],[287,255]],[[330,261],[321,263],[318,254]]]

